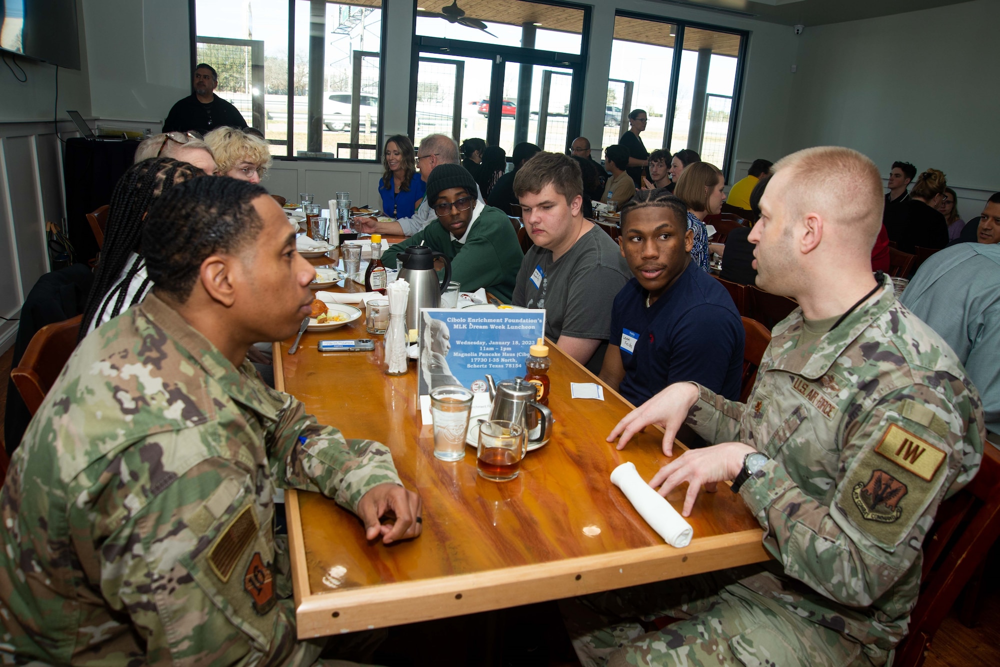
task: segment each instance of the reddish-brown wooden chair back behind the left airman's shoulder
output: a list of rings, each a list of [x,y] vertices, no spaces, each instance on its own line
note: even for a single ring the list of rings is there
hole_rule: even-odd
[[[83,316],[78,315],[70,320],[42,327],[31,338],[17,367],[11,370],[10,377],[32,414],[38,411],[45,394],[52,388],[56,377],[66,365],[66,360],[76,348],[76,335],[80,331],[81,320]]]

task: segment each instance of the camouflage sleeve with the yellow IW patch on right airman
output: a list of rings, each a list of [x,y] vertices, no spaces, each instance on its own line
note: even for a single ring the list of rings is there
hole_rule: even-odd
[[[846,427],[832,496],[829,485],[807,493],[780,457],[739,493],[787,574],[833,600],[867,606],[920,557],[938,504],[972,463],[963,460],[967,423],[940,394],[911,385]]]

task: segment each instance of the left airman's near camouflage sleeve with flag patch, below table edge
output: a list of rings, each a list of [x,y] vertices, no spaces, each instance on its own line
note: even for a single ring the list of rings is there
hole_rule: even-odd
[[[312,650],[275,590],[274,504],[258,494],[259,475],[203,460],[101,545],[101,594],[131,619],[145,664],[279,665]]]

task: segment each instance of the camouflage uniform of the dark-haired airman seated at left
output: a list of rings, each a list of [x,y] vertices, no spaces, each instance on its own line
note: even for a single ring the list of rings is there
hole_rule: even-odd
[[[13,457],[0,662],[313,664],[325,642],[296,639],[275,489],[357,512],[400,484],[384,445],[317,423],[151,294],[80,343]]]

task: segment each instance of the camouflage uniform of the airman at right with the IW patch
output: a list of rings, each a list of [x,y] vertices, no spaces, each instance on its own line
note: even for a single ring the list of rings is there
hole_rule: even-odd
[[[630,433],[660,423],[657,409],[680,404],[683,419],[691,405],[687,423],[707,441],[767,455],[739,494],[774,560],[563,602],[584,665],[890,659],[916,604],[924,537],[978,470],[985,426],[954,352],[876,278],[827,333],[807,333],[801,309],[779,323],[746,404],[682,383],[632,413]],[[651,483],[717,447],[685,452]],[[681,620],[653,632],[638,622],[662,617]]]

